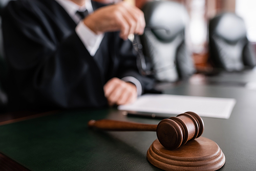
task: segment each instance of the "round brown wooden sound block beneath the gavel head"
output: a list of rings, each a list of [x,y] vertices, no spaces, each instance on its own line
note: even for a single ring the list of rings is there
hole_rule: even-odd
[[[163,170],[218,170],[225,164],[219,145],[204,137],[169,150],[156,139],[147,151],[147,160]]]

